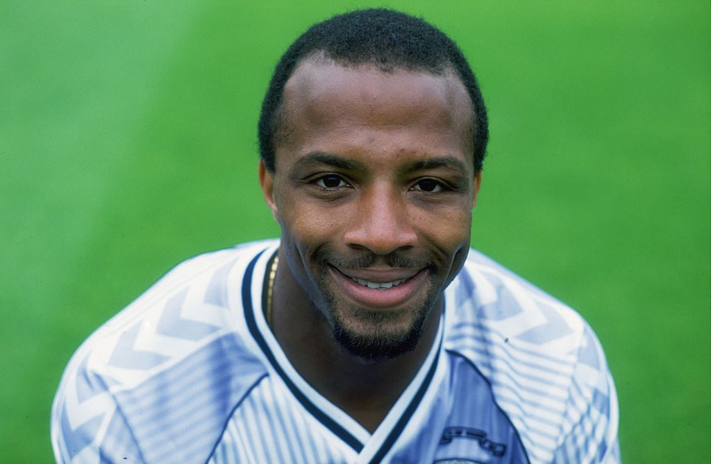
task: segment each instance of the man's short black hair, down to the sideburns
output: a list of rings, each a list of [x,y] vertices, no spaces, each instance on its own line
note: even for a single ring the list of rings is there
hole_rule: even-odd
[[[389,9],[351,11],[314,24],[282,55],[264,96],[259,121],[260,156],[268,171],[276,168],[277,136],[285,124],[284,86],[299,63],[319,53],[338,65],[374,65],[384,72],[405,69],[444,75],[454,70],[471,98],[474,173],[481,171],[488,122],[481,90],[469,63],[456,43],[438,28]]]

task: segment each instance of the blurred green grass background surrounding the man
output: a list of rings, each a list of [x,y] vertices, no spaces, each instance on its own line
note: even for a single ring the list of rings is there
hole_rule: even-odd
[[[626,463],[710,461],[708,0],[115,0],[0,2],[0,462],[52,460],[93,329],[186,257],[277,235],[260,100],[304,28],[358,6],[424,16],[474,66],[474,245],[595,328]]]

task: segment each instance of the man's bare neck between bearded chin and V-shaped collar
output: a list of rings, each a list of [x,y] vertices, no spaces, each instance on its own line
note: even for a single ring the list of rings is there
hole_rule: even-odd
[[[363,360],[336,342],[331,325],[294,280],[281,250],[279,257],[272,300],[274,336],[311,387],[372,433],[427,357],[439,328],[441,298],[414,350],[392,359]]]

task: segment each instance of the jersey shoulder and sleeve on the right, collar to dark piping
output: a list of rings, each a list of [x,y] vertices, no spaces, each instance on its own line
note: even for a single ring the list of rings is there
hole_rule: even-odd
[[[604,462],[616,448],[617,399],[582,316],[475,250],[446,298],[445,348],[491,385],[532,462]]]

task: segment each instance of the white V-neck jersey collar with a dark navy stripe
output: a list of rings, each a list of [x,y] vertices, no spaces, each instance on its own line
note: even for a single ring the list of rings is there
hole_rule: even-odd
[[[289,362],[277,339],[269,330],[267,320],[262,312],[262,288],[267,263],[279,243],[262,250],[255,256],[245,269],[242,278],[242,308],[244,310],[247,329],[259,346],[262,355],[266,358],[269,367],[284,382],[309,413],[321,422],[332,433],[341,438],[356,453],[359,453],[361,462],[379,462],[390,451],[400,437],[400,433],[407,426],[412,414],[422,400],[422,396],[432,384],[434,372],[437,369],[440,353],[442,352],[442,338],[444,333],[444,313],[439,321],[437,335],[432,347],[427,354],[422,366],[415,374],[410,384],[405,388],[400,397],[395,401],[385,419],[371,434],[355,419],[348,416],[342,409],[328,401],[296,372]],[[445,309],[446,309],[445,304]]]

